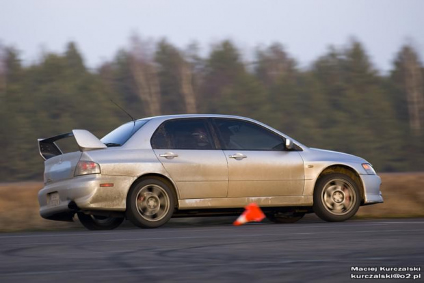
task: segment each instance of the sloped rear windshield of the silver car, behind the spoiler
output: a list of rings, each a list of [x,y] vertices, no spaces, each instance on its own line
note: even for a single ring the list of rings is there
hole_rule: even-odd
[[[122,146],[147,122],[148,120],[137,120],[135,122],[128,122],[127,124],[118,126],[118,128],[114,129],[114,131],[105,135],[101,141],[106,146]]]

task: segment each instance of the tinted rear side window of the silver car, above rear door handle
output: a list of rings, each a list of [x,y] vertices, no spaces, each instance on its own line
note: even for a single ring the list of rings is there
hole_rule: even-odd
[[[215,149],[207,120],[181,119],[163,122],[150,140],[153,149]]]

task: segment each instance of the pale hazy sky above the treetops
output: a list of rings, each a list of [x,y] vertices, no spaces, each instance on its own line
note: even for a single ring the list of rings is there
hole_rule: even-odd
[[[300,66],[349,38],[365,45],[377,68],[391,68],[395,53],[412,42],[424,59],[424,1],[277,0],[0,0],[0,42],[21,51],[26,64],[42,50],[62,53],[77,42],[95,68],[138,33],[168,38],[183,48],[196,40],[203,53],[230,38],[246,55],[280,42]]]

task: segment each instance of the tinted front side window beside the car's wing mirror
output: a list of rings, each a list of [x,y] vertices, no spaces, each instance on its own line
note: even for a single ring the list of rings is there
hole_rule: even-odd
[[[262,126],[231,119],[214,119],[224,150],[284,150],[284,139]]]

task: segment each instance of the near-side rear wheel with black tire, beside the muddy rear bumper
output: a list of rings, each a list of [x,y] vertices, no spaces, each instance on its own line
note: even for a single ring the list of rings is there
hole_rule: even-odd
[[[127,196],[127,219],[141,228],[162,226],[172,217],[174,208],[174,190],[157,178],[140,181]]]

